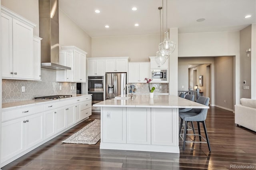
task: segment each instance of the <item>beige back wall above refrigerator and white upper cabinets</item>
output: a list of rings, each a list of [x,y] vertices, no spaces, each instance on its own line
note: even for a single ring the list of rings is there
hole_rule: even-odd
[[[92,57],[130,57],[130,61],[149,61],[159,51],[160,35],[92,38]]]

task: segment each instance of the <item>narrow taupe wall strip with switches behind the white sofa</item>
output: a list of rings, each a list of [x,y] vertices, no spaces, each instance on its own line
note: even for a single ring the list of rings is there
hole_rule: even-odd
[[[246,49],[251,48],[252,40],[252,26],[248,26],[240,31],[240,98],[251,98],[251,53],[247,57]],[[256,66],[254,66],[256,67]],[[250,89],[243,89],[246,80],[246,86]]]

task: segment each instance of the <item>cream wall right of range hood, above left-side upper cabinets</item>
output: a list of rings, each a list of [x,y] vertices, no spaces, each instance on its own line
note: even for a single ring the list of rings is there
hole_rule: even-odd
[[[91,57],[91,37],[74,23],[61,9],[59,10],[60,47],[74,45],[87,52],[86,57]]]

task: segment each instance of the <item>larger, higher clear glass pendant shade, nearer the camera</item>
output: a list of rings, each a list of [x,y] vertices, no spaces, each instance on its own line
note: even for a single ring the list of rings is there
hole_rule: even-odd
[[[170,55],[175,49],[176,43],[169,41],[169,32],[164,32],[164,41],[158,45],[159,51],[164,55]]]

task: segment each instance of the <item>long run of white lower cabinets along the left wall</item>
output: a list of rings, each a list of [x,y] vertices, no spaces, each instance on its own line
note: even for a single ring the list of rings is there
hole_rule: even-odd
[[[92,96],[2,110],[1,165],[92,115]]]

